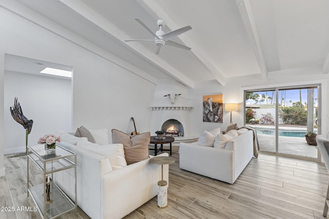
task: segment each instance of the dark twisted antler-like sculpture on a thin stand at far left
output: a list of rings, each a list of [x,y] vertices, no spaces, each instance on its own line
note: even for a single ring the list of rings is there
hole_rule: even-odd
[[[25,147],[26,147],[26,154],[27,154],[27,140],[28,140],[28,134],[30,134],[33,120],[29,120],[25,115],[23,114],[22,107],[20,105],[20,102],[17,102],[17,97],[15,97],[14,106],[10,107],[10,113],[14,120],[21,124],[26,129],[26,141],[25,141]]]

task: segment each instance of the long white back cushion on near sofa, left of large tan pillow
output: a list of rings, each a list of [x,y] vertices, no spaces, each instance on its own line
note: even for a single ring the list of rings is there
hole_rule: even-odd
[[[124,150],[122,144],[98,145],[87,141],[79,141],[77,146],[85,150],[106,156],[113,170],[127,166],[124,158]]]

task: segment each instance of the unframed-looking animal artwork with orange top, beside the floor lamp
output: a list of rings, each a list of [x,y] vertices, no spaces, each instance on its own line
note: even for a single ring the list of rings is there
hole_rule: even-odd
[[[205,95],[203,114],[204,122],[223,123],[223,94]]]

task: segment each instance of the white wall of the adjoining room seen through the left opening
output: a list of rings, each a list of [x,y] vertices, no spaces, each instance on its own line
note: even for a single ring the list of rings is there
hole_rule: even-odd
[[[24,115],[33,120],[29,145],[45,134],[71,130],[70,79],[5,71],[5,154],[25,151],[25,129],[13,120],[9,110],[15,97]]]

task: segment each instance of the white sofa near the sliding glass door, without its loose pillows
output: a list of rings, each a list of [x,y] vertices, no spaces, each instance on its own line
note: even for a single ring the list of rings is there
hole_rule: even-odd
[[[250,130],[233,137],[224,148],[198,144],[179,144],[179,167],[230,184],[253,157],[253,132]]]

